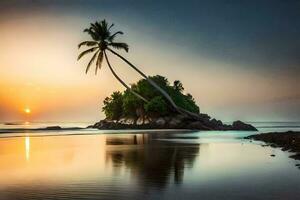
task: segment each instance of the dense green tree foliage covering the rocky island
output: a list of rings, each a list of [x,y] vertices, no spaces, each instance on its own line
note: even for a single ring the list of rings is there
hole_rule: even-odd
[[[190,112],[199,113],[199,107],[196,105],[192,95],[183,93],[184,88],[180,81],[176,80],[173,85],[170,85],[168,79],[163,76],[156,75],[149,78],[164,89],[172,97],[177,106]],[[103,111],[107,118],[119,119],[121,116],[138,117],[138,110],[143,110],[142,113],[147,116],[174,114],[174,110],[169,106],[165,97],[148,83],[147,80],[141,79],[136,84],[133,84],[131,88],[148,99],[149,102],[142,101],[129,90],[126,90],[124,94],[115,92],[111,97],[107,97],[104,100]],[[117,102],[114,103],[114,101]]]

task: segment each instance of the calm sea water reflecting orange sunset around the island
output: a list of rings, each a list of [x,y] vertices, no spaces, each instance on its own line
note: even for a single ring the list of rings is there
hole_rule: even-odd
[[[0,130],[50,125],[88,124]],[[254,125],[269,132],[299,130],[300,123]],[[0,199],[300,199],[300,162],[242,139],[256,133],[2,131]]]

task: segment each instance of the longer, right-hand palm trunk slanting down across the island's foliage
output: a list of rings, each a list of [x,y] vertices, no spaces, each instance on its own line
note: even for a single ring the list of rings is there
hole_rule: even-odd
[[[137,67],[135,67],[132,63],[130,63],[128,60],[126,60],[123,56],[115,52],[114,50],[107,48],[111,53],[115,54],[119,58],[121,58],[124,62],[126,62],[130,67],[132,67],[135,71],[137,71],[142,77],[144,77],[154,88],[156,88],[173,106],[173,108],[181,113],[181,114],[187,114],[188,116],[194,118],[194,119],[201,119],[200,116],[196,113],[190,112],[188,110],[185,110],[181,107],[178,107],[173,99],[170,97],[170,95],[164,91],[159,85],[157,85],[153,80],[151,80],[146,74],[144,74],[141,70],[139,70]]]

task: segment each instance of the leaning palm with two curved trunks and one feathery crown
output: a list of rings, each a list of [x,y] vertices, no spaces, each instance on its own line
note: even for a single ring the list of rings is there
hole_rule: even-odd
[[[89,61],[87,67],[86,67],[86,73],[89,71],[91,65],[96,60],[96,68],[95,73],[97,74],[98,69],[101,69],[101,64],[103,61],[103,57],[105,57],[105,60],[108,64],[109,69],[111,70],[112,74],[115,76],[115,78],[124,86],[126,87],[130,92],[132,92],[135,96],[142,99],[145,102],[148,102],[147,99],[142,97],[140,94],[132,90],[126,83],[115,73],[113,70],[108,57],[107,52],[111,52],[112,54],[119,57],[121,60],[123,60],[125,63],[127,63],[131,68],[133,68],[135,71],[137,71],[143,78],[145,78],[155,89],[157,89],[172,105],[172,107],[179,113],[187,114],[188,116],[192,118],[199,119],[200,116],[196,113],[187,111],[181,107],[178,107],[173,99],[170,97],[170,95],[164,91],[159,85],[157,85],[151,78],[149,78],[146,74],[144,74],[142,71],[140,71],[136,66],[134,66],[131,62],[129,62],[127,59],[125,59],[123,56],[121,56],[119,53],[117,53],[116,50],[125,50],[128,52],[129,47],[126,43],[123,42],[115,42],[115,38],[117,35],[122,35],[122,31],[117,31],[115,33],[111,32],[111,28],[114,26],[114,24],[108,25],[106,20],[102,20],[101,22],[95,22],[91,23],[90,27],[88,29],[84,29],[84,32],[88,33],[92,40],[90,41],[84,41],[81,42],[78,45],[78,48],[81,46],[87,46],[90,47],[89,49],[81,52],[78,56],[78,60],[82,58],[84,55],[87,55],[89,53],[93,53],[93,56],[91,60]]]

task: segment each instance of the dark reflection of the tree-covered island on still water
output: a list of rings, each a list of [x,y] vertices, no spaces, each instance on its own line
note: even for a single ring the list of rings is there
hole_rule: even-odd
[[[184,140],[155,139],[156,136],[150,134],[109,136],[107,145],[126,145],[127,148],[108,150],[106,161],[112,162],[116,172],[123,167],[130,170],[132,178],[145,188],[163,188],[172,180],[181,184],[184,170],[193,166],[200,145],[184,143]]]

